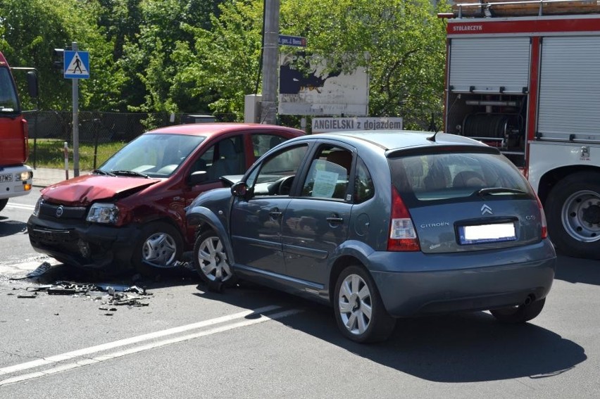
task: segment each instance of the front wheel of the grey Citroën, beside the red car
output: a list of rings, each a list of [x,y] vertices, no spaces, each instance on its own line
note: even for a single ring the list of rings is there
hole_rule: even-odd
[[[223,286],[233,286],[237,282],[223,240],[213,230],[199,234],[192,257],[196,272],[211,291],[221,291]]]

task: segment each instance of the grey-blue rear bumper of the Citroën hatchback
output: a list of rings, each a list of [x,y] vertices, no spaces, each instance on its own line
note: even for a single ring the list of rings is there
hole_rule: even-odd
[[[547,240],[501,253],[413,256],[412,266],[404,270],[371,271],[394,317],[488,310],[520,305],[527,297],[542,299],[556,270],[556,254]]]

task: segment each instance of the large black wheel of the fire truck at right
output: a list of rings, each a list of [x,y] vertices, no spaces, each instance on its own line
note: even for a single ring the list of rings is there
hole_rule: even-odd
[[[600,173],[578,172],[560,180],[545,211],[548,234],[561,253],[600,259]]]

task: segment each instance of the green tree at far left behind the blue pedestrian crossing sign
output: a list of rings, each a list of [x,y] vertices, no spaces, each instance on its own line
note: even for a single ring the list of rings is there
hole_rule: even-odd
[[[80,80],[80,109],[111,110],[120,101],[123,78],[112,62],[111,43],[95,23],[99,11],[96,1],[1,1],[1,50],[11,65],[37,69],[42,108],[71,107],[71,81],[54,68],[52,51],[72,42],[89,51],[91,64],[90,78]]]

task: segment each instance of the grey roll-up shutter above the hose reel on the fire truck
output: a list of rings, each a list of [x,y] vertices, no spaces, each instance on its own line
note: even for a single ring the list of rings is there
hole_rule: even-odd
[[[522,94],[528,87],[529,37],[457,37],[450,42],[454,92]]]

